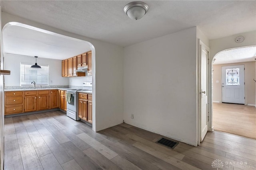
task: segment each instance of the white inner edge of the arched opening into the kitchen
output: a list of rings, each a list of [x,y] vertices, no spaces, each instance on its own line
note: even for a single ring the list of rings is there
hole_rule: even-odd
[[[92,43],[90,43],[89,41],[85,41],[85,40],[82,40],[82,39],[77,39],[77,38],[74,38],[74,37],[69,37],[69,36],[66,36],[66,35],[62,35],[60,33],[55,33],[55,32],[52,32],[52,31],[48,31],[46,29],[41,29],[41,28],[38,28],[38,27],[34,27],[34,26],[31,26],[31,25],[27,25],[27,24],[24,24],[24,23],[20,23],[20,22],[8,22],[4,25],[4,27],[2,28],[2,39],[1,39],[1,44],[2,44],[2,47],[1,47],[1,61],[4,61],[4,33],[5,33],[5,30],[9,27],[12,27],[12,26],[18,26],[18,27],[24,27],[24,28],[27,28],[27,29],[31,29],[31,30],[34,30],[34,31],[39,31],[39,32],[42,32],[42,33],[46,33],[46,34],[49,34],[49,35],[53,35],[53,36],[56,36],[56,37],[61,37],[63,39],[67,39],[69,41],[74,41],[74,42],[82,42],[82,43],[85,43],[86,45],[88,45],[90,47],[90,50],[92,51],[92,130],[93,131],[96,131],[96,74],[95,74],[95,48],[94,48],[94,45],[92,45]],[[85,52],[85,51],[84,51]],[[70,56],[72,57],[72,56]],[[1,66],[4,66],[4,62],[1,62]],[[2,116],[2,115],[1,115]]]

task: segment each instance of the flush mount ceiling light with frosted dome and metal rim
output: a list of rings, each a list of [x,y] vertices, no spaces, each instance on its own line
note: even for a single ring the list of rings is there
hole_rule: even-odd
[[[130,2],[124,7],[124,12],[132,20],[140,20],[147,12],[148,5],[144,2]]]

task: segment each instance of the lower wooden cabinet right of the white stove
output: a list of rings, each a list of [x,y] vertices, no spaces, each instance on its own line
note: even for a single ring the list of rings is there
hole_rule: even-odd
[[[89,101],[91,100],[91,101]],[[92,123],[92,95],[78,93],[78,117]]]

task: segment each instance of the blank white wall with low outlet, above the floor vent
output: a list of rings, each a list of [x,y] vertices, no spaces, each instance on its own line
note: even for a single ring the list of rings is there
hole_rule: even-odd
[[[196,71],[196,27],[125,47],[124,121],[197,145]]]

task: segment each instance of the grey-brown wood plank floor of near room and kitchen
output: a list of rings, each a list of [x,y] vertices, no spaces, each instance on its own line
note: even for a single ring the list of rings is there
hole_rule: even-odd
[[[98,133],[61,111],[5,118],[4,170],[255,170],[256,141],[208,132],[168,149],[161,135],[120,124]]]

